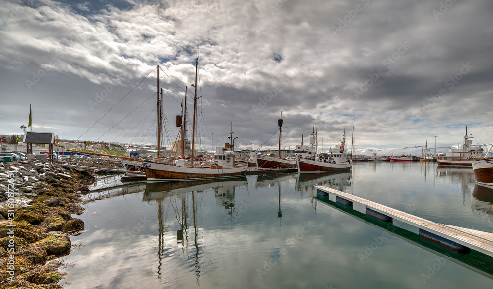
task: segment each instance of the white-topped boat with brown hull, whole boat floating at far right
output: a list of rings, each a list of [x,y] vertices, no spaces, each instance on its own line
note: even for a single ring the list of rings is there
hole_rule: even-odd
[[[462,148],[452,149],[449,153],[437,158],[438,165],[450,166],[472,166],[473,161],[484,157],[484,149],[481,146],[472,147],[472,134],[467,136],[467,126],[465,136],[462,141]]]

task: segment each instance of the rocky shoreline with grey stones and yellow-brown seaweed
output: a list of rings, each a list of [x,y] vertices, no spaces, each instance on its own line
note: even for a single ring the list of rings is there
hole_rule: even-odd
[[[83,212],[77,203],[94,180],[38,159],[0,164],[0,288],[61,288],[57,259],[84,229],[71,215]]]

